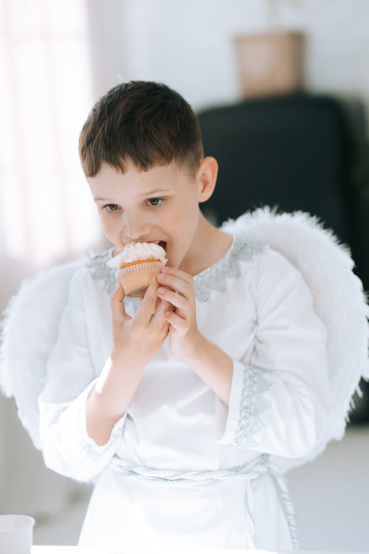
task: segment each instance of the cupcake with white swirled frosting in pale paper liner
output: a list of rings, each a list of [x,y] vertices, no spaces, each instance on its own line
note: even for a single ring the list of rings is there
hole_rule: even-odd
[[[141,296],[148,288],[152,275],[160,273],[167,261],[165,250],[158,243],[132,242],[107,265],[118,268],[115,276],[123,287],[124,295]]]

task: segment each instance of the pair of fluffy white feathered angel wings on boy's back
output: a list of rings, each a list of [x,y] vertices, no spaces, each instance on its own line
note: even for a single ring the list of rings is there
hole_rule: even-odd
[[[315,458],[329,440],[343,437],[351,397],[360,378],[369,378],[369,307],[361,281],[352,272],[349,249],[317,218],[303,212],[277,214],[264,207],[224,223],[222,229],[250,242],[269,244],[284,255],[302,273],[328,333],[328,425],[308,456],[278,460],[280,468],[287,470]],[[5,312],[0,386],[6,396],[14,396],[19,418],[38,449],[38,397],[46,382],[46,362],[56,342],[70,279],[86,259],[24,281]]]

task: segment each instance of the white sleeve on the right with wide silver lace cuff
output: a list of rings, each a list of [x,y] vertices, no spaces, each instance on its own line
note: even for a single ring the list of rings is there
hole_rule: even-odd
[[[253,350],[233,360],[231,397],[218,442],[287,458],[310,452],[324,430],[326,331],[300,273],[273,250],[250,277]]]

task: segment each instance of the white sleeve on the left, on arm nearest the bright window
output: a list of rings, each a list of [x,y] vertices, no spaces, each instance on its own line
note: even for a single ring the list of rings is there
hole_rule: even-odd
[[[58,340],[48,361],[48,377],[39,397],[39,408],[46,466],[62,475],[88,481],[105,468],[115,453],[126,414],[116,423],[106,445],[97,445],[87,434],[86,402],[98,376],[91,361],[83,302],[76,275],[60,320]]]

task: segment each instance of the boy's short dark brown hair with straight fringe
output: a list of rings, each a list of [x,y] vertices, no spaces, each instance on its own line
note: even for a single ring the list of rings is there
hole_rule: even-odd
[[[130,81],[100,98],[82,127],[79,154],[86,177],[102,162],[126,172],[176,161],[191,176],[204,157],[199,121],[182,96],[163,83]]]

